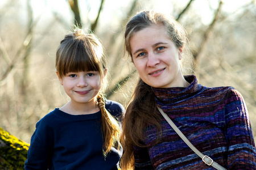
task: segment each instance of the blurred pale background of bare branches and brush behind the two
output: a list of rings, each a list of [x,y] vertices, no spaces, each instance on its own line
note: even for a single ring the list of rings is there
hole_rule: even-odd
[[[138,75],[123,58],[123,28],[142,9],[171,14],[187,29],[199,83],[237,88],[255,138],[255,0],[1,0],[0,126],[29,143],[36,122],[68,101],[55,53],[74,23],[101,39],[111,75],[106,96],[126,105]]]

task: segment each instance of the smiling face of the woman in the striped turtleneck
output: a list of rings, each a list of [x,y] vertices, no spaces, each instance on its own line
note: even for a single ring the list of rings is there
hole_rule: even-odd
[[[134,33],[130,46],[134,66],[143,82],[156,88],[184,86],[179,65],[183,49],[177,49],[168,39],[163,25]]]

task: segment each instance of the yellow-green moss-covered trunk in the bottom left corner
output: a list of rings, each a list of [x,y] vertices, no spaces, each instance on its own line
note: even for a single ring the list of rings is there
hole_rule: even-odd
[[[0,128],[0,169],[24,169],[29,146]]]

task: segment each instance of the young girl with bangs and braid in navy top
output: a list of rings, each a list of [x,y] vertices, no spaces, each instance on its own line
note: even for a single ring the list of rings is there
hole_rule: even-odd
[[[25,169],[118,169],[117,120],[124,108],[104,99],[107,68],[100,41],[76,29],[60,42],[55,66],[70,101],[36,124]]]

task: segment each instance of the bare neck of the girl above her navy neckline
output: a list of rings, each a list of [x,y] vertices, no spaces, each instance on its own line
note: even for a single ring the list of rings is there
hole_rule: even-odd
[[[86,104],[72,103],[72,101],[69,101],[63,107],[61,107],[60,110],[73,115],[92,114],[100,111],[97,105],[97,100],[93,100]]]

